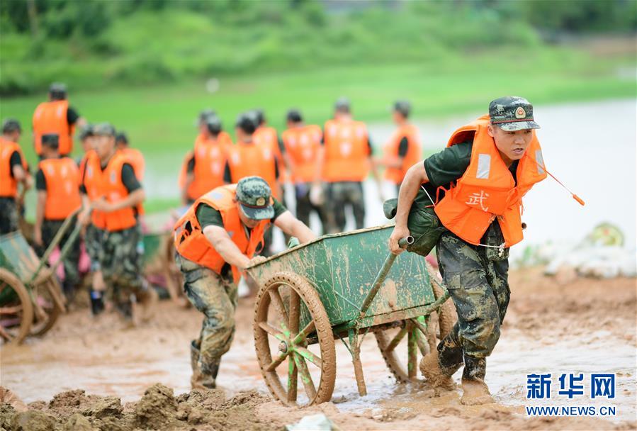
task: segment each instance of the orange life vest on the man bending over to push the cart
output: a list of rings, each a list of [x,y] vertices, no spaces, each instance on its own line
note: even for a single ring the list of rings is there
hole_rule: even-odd
[[[246,235],[246,228],[239,218],[239,208],[235,203],[235,191],[237,184],[221,186],[208,191],[198,198],[174,226],[175,250],[181,256],[189,259],[202,267],[212,269],[215,273],[221,274],[221,269],[225,265],[225,260],[208,242],[199,221],[196,217],[197,207],[200,203],[205,203],[221,213],[223,228],[227,231],[232,242],[247,257],[252,258],[260,242],[263,241],[264,233],[268,227],[269,220],[261,220],[252,229],[249,237]],[[239,269],[232,266],[232,278],[235,283],[241,276]]]

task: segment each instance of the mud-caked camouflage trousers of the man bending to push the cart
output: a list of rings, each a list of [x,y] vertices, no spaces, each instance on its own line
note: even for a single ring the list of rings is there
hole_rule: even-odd
[[[237,285],[179,254],[176,254],[175,261],[184,274],[184,291],[188,300],[203,313],[201,332],[193,345],[200,352],[198,364],[201,371],[212,374],[213,367],[230,349],[235,336]]]

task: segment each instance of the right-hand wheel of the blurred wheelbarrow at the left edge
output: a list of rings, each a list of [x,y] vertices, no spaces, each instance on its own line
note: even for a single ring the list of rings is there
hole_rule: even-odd
[[[57,318],[64,311],[64,299],[60,283],[54,275],[49,274],[44,279],[38,277],[31,289],[33,299],[33,325],[30,335],[43,335],[50,330]]]

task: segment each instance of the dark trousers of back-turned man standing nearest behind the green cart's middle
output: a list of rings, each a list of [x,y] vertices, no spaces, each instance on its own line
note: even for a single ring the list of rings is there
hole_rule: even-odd
[[[351,206],[356,229],[365,224],[365,195],[360,181],[339,181],[327,184],[327,224],[329,233],[345,230],[345,207]]]

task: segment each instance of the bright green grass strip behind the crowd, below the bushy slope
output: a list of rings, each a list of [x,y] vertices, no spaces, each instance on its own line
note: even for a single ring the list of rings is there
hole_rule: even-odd
[[[145,153],[148,169],[157,171],[181,163],[196,135],[198,111],[207,106],[218,111],[231,134],[237,114],[257,107],[266,110],[278,130],[291,107],[300,108],[308,122],[322,124],[339,96],[351,99],[354,116],[363,121],[390,121],[390,105],[398,98],[412,101],[415,118],[430,119],[485,110],[490,100],[507,94],[525,96],[535,104],[635,97],[634,79],[617,74],[619,67],[634,67],[633,61],[593,60],[585,52],[563,49],[526,56],[516,51],[487,52],[436,69],[376,65],[227,78],[220,80],[215,94],[205,91],[203,82],[193,81],[78,92],[69,82],[69,99],[89,121],[111,121],[125,130],[133,146]],[[0,104],[2,118],[16,117],[29,130],[22,145],[32,164],[30,118],[43,96],[4,98]],[[152,212],[174,203],[151,200],[148,206]]]

